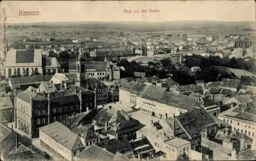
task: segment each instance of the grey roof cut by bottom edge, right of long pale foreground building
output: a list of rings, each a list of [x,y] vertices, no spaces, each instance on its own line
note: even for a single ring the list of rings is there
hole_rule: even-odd
[[[98,147],[97,145],[92,145],[78,155],[74,159],[79,160],[113,160],[114,154]]]

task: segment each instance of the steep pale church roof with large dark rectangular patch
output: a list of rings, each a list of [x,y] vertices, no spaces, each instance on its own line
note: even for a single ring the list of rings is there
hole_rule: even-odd
[[[10,49],[7,52],[6,66],[41,66],[41,58],[41,49]]]

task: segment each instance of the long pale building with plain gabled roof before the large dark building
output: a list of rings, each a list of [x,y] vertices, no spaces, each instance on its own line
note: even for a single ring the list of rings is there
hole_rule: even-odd
[[[80,134],[57,121],[40,127],[39,139],[40,145],[58,160],[73,160],[84,149]]]

